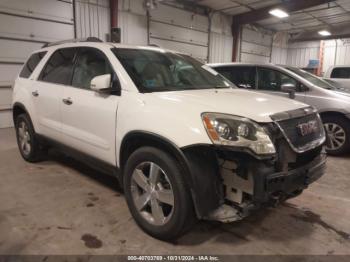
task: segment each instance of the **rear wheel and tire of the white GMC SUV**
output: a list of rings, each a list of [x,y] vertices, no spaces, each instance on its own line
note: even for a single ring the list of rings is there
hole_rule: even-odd
[[[18,149],[23,159],[32,163],[43,160],[47,152],[37,140],[30,117],[27,114],[17,116],[15,128]]]

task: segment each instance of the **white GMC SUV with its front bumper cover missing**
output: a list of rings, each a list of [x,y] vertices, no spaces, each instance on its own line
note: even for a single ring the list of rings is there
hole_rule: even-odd
[[[23,158],[50,146],[114,174],[137,224],[172,239],[296,196],[324,174],[313,108],[236,89],[188,55],[74,41],[33,53],[13,118]]]

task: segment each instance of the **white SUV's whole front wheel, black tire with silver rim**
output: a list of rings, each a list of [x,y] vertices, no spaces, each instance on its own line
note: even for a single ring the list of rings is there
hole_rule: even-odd
[[[178,238],[195,222],[183,171],[162,150],[142,147],[132,153],[125,166],[124,191],[136,223],[155,238]]]

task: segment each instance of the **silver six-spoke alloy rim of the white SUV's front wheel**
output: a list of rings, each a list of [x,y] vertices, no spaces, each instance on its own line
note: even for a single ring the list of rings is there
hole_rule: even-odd
[[[143,162],[133,171],[131,194],[139,214],[150,224],[166,224],[174,211],[174,192],[166,173],[153,162]]]

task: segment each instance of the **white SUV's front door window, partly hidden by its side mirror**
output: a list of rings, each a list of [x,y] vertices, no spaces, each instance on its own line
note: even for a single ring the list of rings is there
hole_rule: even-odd
[[[100,75],[113,74],[113,70],[105,55],[94,48],[84,48],[74,68],[72,85],[75,87],[90,89],[91,80]]]

